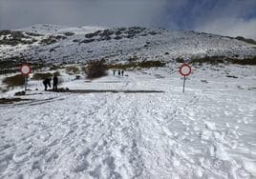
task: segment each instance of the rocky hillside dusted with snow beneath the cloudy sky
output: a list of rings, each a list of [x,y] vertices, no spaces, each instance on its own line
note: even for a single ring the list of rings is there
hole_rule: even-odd
[[[101,58],[123,61],[135,55],[139,60],[163,61],[205,55],[241,59],[256,56],[256,49],[255,45],[221,35],[139,27],[37,25],[20,33],[2,31],[0,34],[1,60],[22,58],[29,62],[74,63]]]

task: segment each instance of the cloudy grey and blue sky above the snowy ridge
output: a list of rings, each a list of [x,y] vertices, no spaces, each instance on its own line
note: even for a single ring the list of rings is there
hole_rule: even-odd
[[[0,30],[143,26],[256,39],[256,0],[0,0]]]

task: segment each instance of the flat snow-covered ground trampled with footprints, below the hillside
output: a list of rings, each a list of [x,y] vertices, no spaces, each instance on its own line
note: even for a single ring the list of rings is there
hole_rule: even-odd
[[[177,67],[62,84],[162,93],[30,82],[34,100],[0,106],[0,178],[255,178],[255,67],[193,69],[185,93]]]

